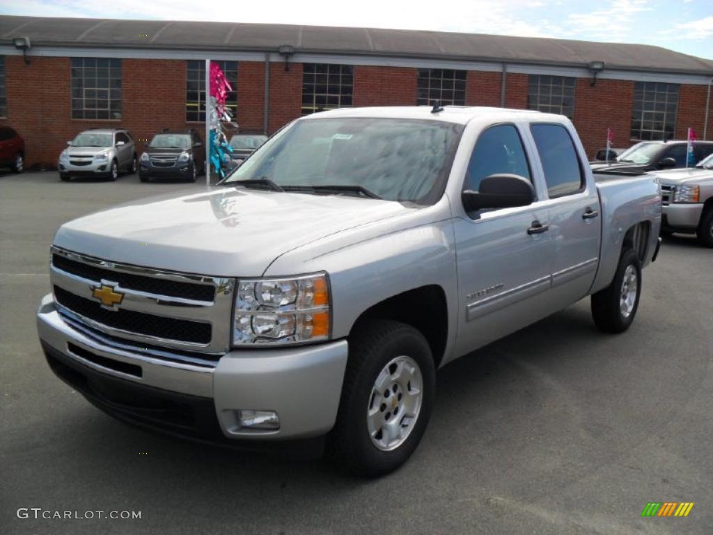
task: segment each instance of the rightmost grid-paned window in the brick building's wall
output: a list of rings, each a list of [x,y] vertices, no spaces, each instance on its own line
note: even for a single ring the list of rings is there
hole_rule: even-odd
[[[631,111],[631,138],[671,139],[678,111],[677,83],[635,82]]]

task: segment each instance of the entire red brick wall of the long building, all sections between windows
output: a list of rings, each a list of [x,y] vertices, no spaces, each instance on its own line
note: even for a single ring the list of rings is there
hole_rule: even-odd
[[[56,165],[66,141],[86,128],[128,128],[137,140],[148,139],[161,128],[198,128],[185,121],[185,61],[125,59],[122,62],[123,118],[121,121],[83,121],[70,118],[70,63],[68,58],[33,57],[26,66],[21,56],[6,56],[8,118],[26,141],[26,164]],[[237,121],[240,128],[262,131],[265,65],[261,61],[238,63]],[[508,73],[506,106],[527,107],[528,76]],[[605,146],[607,128],[614,131],[614,146],[630,146],[634,83],[578,78],[574,123],[588,156]],[[498,106],[501,73],[469,71],[466,104]],[[702,138],[706,86],[682,85],[676,136],[685,138],[691,126]],[[354,106],[413,105],[416,103],[416,69],[354,67]],[[269,131],[299,117],[302,106],[302,64],[270,66]],[[712,103],[713,108],[713,103]],[[713,109],[708,137],[713,138]],[[139,146],[139,149],[141,147]]]

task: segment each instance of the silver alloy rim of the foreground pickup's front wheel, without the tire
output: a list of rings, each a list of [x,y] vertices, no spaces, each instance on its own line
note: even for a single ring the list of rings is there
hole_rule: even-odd
[[[403,444],[416,426],[423,401],[421,368],[402,355],[384,366],[371,387],[366,424],[371,442],[382,452]]]

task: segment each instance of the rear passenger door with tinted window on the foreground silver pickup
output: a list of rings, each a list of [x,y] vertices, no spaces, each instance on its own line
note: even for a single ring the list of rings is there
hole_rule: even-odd
[[[563,124],[530,125],[538,165],[547,186],[553,240],[552,298],[555,310],[588,294],[599,263],[601,207],[586,159]]]

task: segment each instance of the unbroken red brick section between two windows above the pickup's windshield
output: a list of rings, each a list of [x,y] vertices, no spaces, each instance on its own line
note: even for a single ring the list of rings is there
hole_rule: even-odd
[[[354,67],[354,106],[415,106],[415,68]]]

